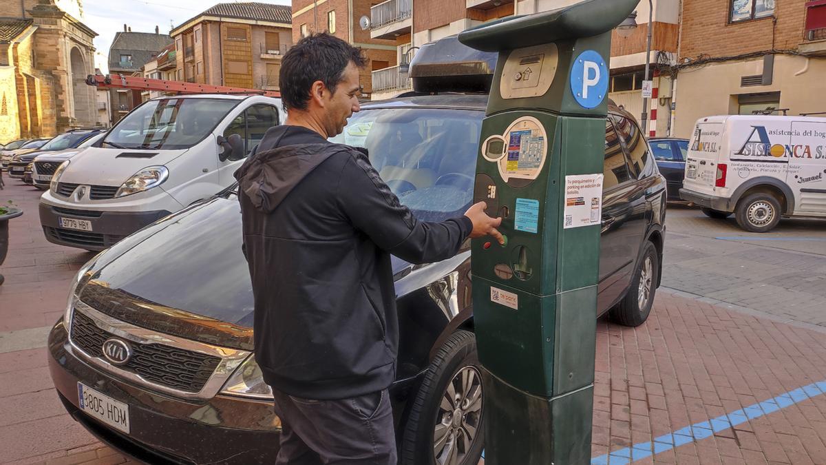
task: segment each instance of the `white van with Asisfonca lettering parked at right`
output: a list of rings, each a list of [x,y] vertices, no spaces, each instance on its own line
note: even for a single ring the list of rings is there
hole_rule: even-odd
[[[712,218],[767,232],[781,216],[826,217],[826,117],[697,121],[680,196]]]

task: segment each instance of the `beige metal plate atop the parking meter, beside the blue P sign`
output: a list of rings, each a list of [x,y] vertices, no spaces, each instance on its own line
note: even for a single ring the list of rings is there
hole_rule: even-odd
[[[525,47],[510,52],[499,92],[502,98],[539,97],[548,92],[557,74],[559,52],[556,44]]]

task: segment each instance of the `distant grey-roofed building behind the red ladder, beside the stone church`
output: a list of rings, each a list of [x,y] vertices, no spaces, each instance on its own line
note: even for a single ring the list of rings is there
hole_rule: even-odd
[[[124,24],[123,31],[116,32],[109,47],[109,74],[142,76],[144,66],[157,60],[161,51],[172,43],[172,38],[161,34],[158,26],[154,32],[132,32],[132,28]],[[109,93],[112,124],[143,102],[140,90],[110,89]]]

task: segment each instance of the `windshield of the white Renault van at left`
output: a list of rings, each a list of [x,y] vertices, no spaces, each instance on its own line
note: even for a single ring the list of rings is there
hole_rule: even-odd
[[[239,102],[227,98],[150,100],[118,122],[103,142],[127,149],[186,149],[207,137]]]

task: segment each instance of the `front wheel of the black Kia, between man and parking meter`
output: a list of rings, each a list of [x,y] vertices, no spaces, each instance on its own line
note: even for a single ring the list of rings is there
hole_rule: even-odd
[[[401,437],[399,463],[477,465],[485,442],[482,401],[476,337],[459,330],[436,352],[415,395]],[[456,410],[463,414],[461,419],[454,419]],[[438,441],[443,432],[443,440]]]

